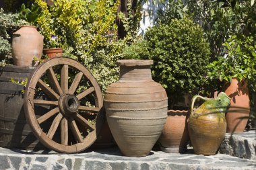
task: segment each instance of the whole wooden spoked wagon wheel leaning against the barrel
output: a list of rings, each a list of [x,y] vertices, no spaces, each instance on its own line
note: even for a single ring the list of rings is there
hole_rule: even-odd
[[[55,76],[55,71],[53,70],[53,67],[57,65],[60,67],[63,65],[60,73],[61,83],[58,82]],[[68,87],[69,69],[76,69],[79,73],[75,75],[73,83]],[[46,83],[40,79],[44,74],[51,80],[52,88],[47,86]],[[83,76],[88,80],[90,87],[82,93],[75,95],[75,89]],[[36,87],[40,87],[40,89],[51,98],[51,101],[34,99]],[[93,93],[94,95],[95,108],[79,105],[79,100],[90,93]],[[71,105],[69,105],[69,101],[71,102]],[[50,110],[39,118],[36,118],[34,104],[56,106],[56,108]],[[104,122],[103,108],[102,93],[96,79],[94,79],[88,69],[81,63],[71,58],[57,57],[42,62],[42,64],[36,67],[31,74],[26,86],[24,109],[28,124],[30,124],[32,132],[34,132],[35,136],[42,142],[42,144],[44,144],[44,146],[59,153],[78,153],[84,151],[96,140],[96,136],[98,136]],[[86,118],[77,112],[78,110],[96,113],[96,123],[92,125]],[[43,132],[40,124],[53,116],[55,116],[55,118],[51,123],[49,131]],[[91,132],[83,138],[77,128],[77,124],[90,129]],[[61,128],[61,142],[55,142],[52,139],[58,127]],[[68,144],[68,128],[70,128],[69,132],[72,132],[77,143]]]

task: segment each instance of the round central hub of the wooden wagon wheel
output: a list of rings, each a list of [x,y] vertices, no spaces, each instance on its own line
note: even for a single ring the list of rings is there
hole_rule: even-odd
[[[59,97],[59,110],[65,116],[71,116],[78,111],[79,100],[75,95],[63,94]]]

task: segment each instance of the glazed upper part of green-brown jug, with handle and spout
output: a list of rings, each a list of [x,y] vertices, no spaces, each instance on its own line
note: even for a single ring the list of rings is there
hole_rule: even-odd
[[[194,111],[194,103],[197,98],[205,102]],[[225,113],[230,105],[230,97],[221,92],[215,99],[195,95],[191,103],[191,117],[199,120],[210,120],[217,122],[226,122]]]

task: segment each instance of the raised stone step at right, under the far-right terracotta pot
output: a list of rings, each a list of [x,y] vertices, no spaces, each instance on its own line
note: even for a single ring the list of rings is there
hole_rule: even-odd
[[[219,152],[256,161],[256,132],[226,134]]]

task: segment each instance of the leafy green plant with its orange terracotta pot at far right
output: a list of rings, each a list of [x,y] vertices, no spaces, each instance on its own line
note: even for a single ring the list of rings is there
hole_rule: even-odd
[[[253,36],[230,36],[223,55],[212,62],[208,77],[224,83],[222,91],[230,98],[226,132],[243,132],[250,113],[249,89],[255,89],[256,52]]]

